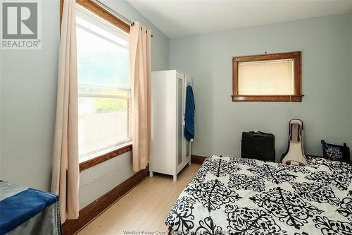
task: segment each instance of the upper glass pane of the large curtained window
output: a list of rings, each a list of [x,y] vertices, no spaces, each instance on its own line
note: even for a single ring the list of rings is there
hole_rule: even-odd
[[[82,20],[81,18],[80,21]],[[123,47],[110,37],[105,37],[100,31],[97,32],[94,28],[86,28],[77,23],[78,83],[129,89],[128,47]],[[106,31],[106,34],[108,33]]]

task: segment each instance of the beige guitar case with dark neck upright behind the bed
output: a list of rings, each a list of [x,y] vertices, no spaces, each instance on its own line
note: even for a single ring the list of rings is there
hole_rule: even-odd
[[[282,163],[296,166],[308,164],[303,150],[303,122],[300,119],[289,121],[289,146],[282,157]]]

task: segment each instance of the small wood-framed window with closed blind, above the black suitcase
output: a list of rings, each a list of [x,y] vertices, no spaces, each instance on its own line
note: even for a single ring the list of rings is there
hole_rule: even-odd
[[[301,102],[301,52],[232,59],[233,101]]]

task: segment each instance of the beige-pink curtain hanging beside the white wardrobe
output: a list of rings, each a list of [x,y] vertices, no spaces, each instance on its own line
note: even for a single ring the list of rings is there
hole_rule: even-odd
[[[130,78],[132,88],[133,170],[145,169],[151,140],[151,30],[139,22],[130,29]]]

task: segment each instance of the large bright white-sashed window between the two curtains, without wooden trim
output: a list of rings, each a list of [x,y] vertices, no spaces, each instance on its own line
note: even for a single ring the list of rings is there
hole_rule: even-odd
[[[77,5],[80,158],[130,142],[128,33]]]

